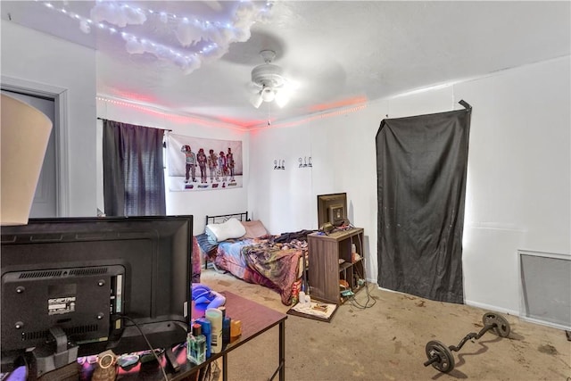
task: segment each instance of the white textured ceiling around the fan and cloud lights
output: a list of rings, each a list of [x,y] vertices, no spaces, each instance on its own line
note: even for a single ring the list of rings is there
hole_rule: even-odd
[[[569,2],[277,1],[228,52],[181,70],[153,54],[129,54],[117,34],[86,34],[69,14],[44,2],[0,3],[2,22],[17,22],[97,49],[97,93],[154,104],[244,127],[468,79],[570,53]],[[95,2],[52,2],[89,17]],[[117,2],[215,20],[236,2]],[[259,3],[255,3],[259,4]],[[265,3],[261,3],[262,5]],[[226,13],[225,13],[226,12]],[[118,28],[119,29],[119,28]],[[121,30],[176,45],[172,25],[148,17]],[[178,46],[178,48],[183,49]],[[260,51],[300,87],[284,108],[249,102]]]

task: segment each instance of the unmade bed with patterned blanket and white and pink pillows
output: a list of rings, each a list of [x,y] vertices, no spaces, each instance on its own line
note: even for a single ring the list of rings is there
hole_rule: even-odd
[[[231,226],[228,228],[228,226]],[[270,235],[248,213],[207,216],[205,232],[196,236],[205,266],[228,271],[246,282],[276,290],[285,305],[304,284],[307,235],[313,230]]]

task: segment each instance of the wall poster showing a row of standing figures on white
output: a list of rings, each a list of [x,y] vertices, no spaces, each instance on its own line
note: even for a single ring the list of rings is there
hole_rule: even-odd
[[[169,134],[171,191],[221,190],[242,187],[242,142]]]

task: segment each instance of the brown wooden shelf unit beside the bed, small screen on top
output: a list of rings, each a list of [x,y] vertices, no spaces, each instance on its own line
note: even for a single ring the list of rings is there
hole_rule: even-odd
[[[346,280],[353,293],[364,286],[365,270],[363,266],[363,229],[351,228],[338,230],[328,236],[313,233],[308,237],[310,268],[308,271],[310,297],[322,302],[343,303],[341,279]],[[352,244],[360,255],[358,261],[352,261]],[[343,260],[339,263],[339,260]]]

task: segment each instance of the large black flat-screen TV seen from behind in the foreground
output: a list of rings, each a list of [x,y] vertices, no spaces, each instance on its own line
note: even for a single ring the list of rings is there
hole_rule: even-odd
[[[29,219],[2,227],[3,368],[29,348],[62,350],[58,335],[77,356],[149,349],[139,328],[153,348],[185,342],[192,232],[192,216]]]

